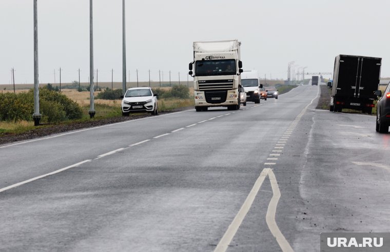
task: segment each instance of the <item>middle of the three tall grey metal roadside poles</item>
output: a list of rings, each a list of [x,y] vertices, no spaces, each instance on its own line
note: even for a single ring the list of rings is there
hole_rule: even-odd
[[[89,118],[95,116],[94,94],[93,94],[93,13],[92,0],[89,0]]]

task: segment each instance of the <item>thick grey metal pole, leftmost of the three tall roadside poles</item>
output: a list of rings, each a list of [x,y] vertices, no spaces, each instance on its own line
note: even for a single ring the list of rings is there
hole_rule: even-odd
[[[91,0],[92,1],[92,0]],[[37,0],[34,0],[34,113],[32,119],[34,126],[40,125],[40,89],[38,81],[38,14],[37,14]]]

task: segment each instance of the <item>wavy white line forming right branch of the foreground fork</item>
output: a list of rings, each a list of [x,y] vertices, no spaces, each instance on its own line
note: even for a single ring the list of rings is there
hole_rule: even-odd
[[[271,231],[272,235],[274,235],[274,237],[276,238],[276,241],[278,242],[283,252],[294,251],[286,240],[286,238],[283,236],[282,232],[278,227],[278,224],[275,221],[276,207],[278,206],[281,193],[279,190],[278,182],[276,181],[275,174],[272,170],[268,171],[268,178],[271,182],[272,192],[274,193],[274,195],[272,195],[271,201],[269,202],[267,214],[265,216],[268,228]]]

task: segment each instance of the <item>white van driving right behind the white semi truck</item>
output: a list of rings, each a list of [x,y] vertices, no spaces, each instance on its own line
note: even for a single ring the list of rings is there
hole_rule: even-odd
[[[241,85],[245,87],[248,102],[260,103],[260,77],[256,70],[245,70],[241,73]]]

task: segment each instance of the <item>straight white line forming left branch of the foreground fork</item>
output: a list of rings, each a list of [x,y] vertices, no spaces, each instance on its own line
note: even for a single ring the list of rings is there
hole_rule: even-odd
[[[222,239],[218,243],[216,249],[214,249],[214,252],[226,251],[231,240],[236,235],[236,232],[237,232],[238,228],[240,227],[242,221],[244,220],[246,214],[248,213],[250,207],[252,206],[252,203],[255,200],[256,195],[259,192],[261,184],[263,184],[265,177],[267,177],[269,170],[270,170],[269,168],[265,168],[262,170],[259,178],[256,180],[255,184],[253,185],[252,189],[250,190],[249,195],[246,197],[244,204],[241,206],[236,217],[230,223],[225,234],[223,235]]]

